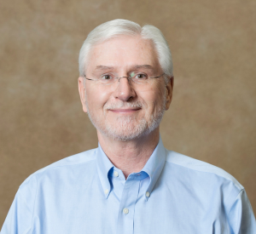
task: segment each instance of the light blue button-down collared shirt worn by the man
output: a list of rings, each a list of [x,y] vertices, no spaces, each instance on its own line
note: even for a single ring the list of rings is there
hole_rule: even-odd
[[[142,171],[125,176],[101,146],[28,177],[1,234],[256,233],[244,188],[230,174],[160,140]]]

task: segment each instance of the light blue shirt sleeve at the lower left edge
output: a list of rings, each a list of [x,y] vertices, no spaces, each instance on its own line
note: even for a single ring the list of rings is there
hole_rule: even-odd
[[[1,234],[32,233],[32,215],[37,181],[27,178],[15,195],[15,200],[3,223]]]

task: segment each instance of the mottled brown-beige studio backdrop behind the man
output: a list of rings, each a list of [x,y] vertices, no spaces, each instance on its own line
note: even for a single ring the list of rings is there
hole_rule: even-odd
[[[158,26],[172,49],[166,148],[234,175],[255,212],[254,0],[10,0],[0,3],[0,226],[28,175],[97,146],[78,55],[87,33],[115,18]]]

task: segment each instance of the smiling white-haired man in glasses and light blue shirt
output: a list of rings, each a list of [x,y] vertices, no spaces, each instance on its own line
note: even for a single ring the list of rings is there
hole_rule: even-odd
[[[256,233],[236,179],[162,145],[173,75],[157,28],[128,20],[96,27],[79,70],[99,147],[26,179],[1,233]]]

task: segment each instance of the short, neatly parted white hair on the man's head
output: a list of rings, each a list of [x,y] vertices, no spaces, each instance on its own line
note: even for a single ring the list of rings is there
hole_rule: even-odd
[[[93,31],[90,31],[85,39],[79,53],[79,72],[80,76],[84,76],[86,62],[89,59],[90,49],[98,44],[103,43],[113,37],[121,35],[137,36],[140,35],[143,39],[151,40],[158,54],[158,60],[163,72],[168,77],[172,77],[172,54],[165,37],[161,31],[155,26],[139,26],[137,23],[130,20],[111,20],[97,26]]]

